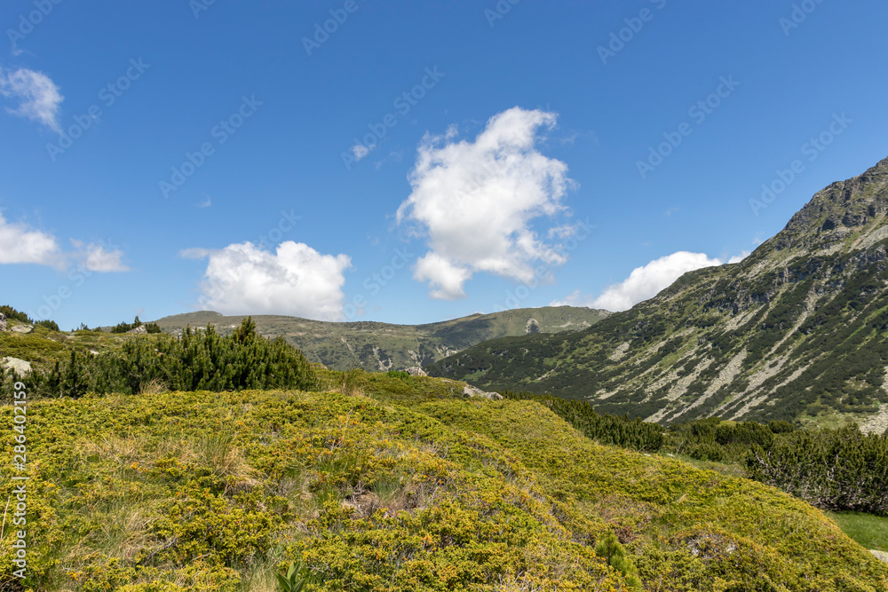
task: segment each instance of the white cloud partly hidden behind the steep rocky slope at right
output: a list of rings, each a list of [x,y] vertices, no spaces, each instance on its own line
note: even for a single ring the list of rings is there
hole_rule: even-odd
[[[551,305],[589,306],[612,312],[626,311],[639,302],[653,298],[663,289],[669,288],[672,282],[678,280],[686,272],[725,263],[739,263],[748,255],[749,252],[744,251],[741,255],[731,257],[725,262],[718,258],[710,258],[704,253],[678,251],[678,253],[655,259],[643,267],[637,267],[632,270],[626,280],[607,287],[598,298],[583,296],[580,290],[575,290],[564,300],[556,300]]]

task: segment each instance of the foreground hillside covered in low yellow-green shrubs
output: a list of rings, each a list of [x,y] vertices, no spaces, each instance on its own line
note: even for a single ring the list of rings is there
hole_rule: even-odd
[[[318,379],[30,403],[30,575],[12,579],[7,529],[0,588],[270,591],[290,560],[306,592],[888,587],[888,564],[771,487],[439,379]]]

